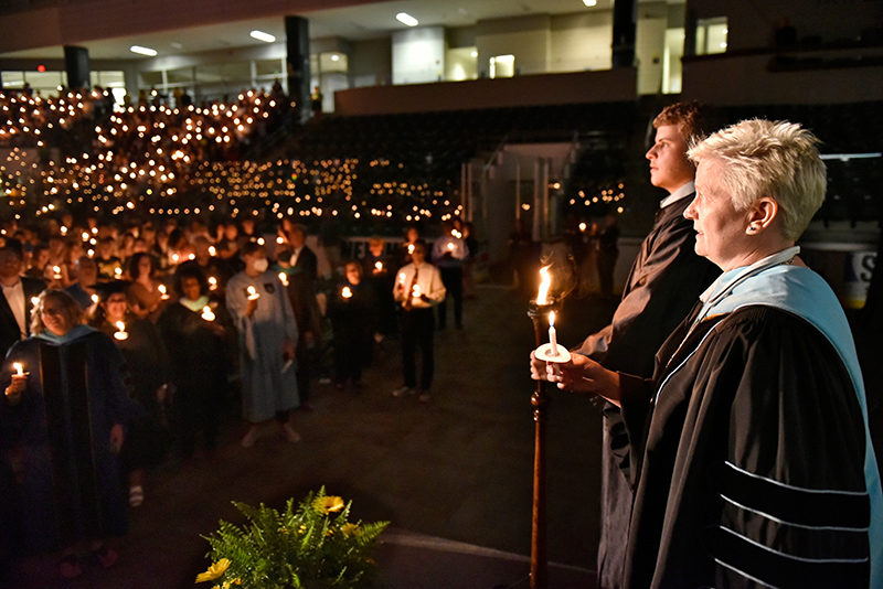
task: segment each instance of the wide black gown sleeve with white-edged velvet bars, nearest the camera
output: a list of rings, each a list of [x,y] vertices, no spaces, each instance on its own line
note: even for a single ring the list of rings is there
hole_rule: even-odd
[[[715,331],[696,361],[701,403],[684,422],[669,514],[684,503],[667,517],[660,561],[689,561],[678,526],[699,517],[715,587],[866,588],[865,430],[840,356],[816,328],[773,308],[737,311]],[[708,500],[688,505],[690,496]]]

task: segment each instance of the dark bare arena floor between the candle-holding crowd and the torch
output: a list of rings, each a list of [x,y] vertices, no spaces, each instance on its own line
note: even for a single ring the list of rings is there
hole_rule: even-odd
[[[575,345],[609,320],[615,304],[566,301],[556,321],[560,341]],[[398,342],[386,340],[362,390],[315,384],[315,410],[295,418],[298,443],[268,427],[254,447],[241,447],[244,427],[231,404],[217,456],[148,473],[146,501],[130,510],[114,567],[87,567],[65,581],[56,557],[45,556],[17,565],[4,582],[195,587],[196,574],[210,564],[201,536],[221,518],[242,522],[231,502],[280,508],[325,485],[329,494],[353,500],[355,520],[392,523],[377,550],[379,589],[530,587],[534,386],[528,355],[534,334],[526,310],[528,301],[508,285],[480,285],[477,298],[465,303],[465,329],[436,334],[429,403],[391,395],[402,384],[401,361]],[[549,586],[594,588],[599,413],[585,397],[550,395]]]

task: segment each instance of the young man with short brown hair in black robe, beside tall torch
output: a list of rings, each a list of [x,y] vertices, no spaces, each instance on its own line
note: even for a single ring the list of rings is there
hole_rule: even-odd
[[[574,350],[610,370],[650,377],[653,354],[720,274],[713,264],[696,256],[695,232],[683,217],[695,193],[695,167],[687,159],[687,148],[692,139],[714,130],[710,128],[712,119],[704,105],[678,103],[653,120],[656,139],[647,152],[650,183],[668,196],[659,203],[653,228],[631,266],[613,321]],[[604,413],[598,583],[602,589],[619,589],[632,490],[615,457],[627,445],[619,410],[608,403]]]

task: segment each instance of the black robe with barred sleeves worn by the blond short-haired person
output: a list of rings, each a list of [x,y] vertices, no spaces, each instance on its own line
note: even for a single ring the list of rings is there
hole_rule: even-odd
[[[772,307],[689,325],[652,381],[621,376],[627,586],[866,588],[865,426],[834,347]]]

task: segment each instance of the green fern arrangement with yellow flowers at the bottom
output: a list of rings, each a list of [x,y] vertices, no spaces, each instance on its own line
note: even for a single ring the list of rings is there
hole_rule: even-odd
[[[233,503],[248,523],[222,521],[203,536],[211,545],[212,565],[196,582],[212,589],[352,589],[369,583],[376,564],[371,551],[390,522],[349,522],[352,502],[327,495],[325,486],[285,511]]]

